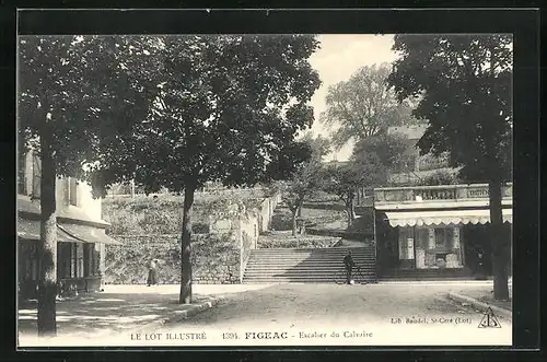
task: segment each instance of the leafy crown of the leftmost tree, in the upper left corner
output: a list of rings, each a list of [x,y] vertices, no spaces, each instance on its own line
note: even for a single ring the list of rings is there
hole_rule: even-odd
[[[28,36],[19,48],[21,143],[39,149],[46,120],[58,176],[83,177],[101,139],[113,139],[148,112],[155,91],[146,37]],[[138,65],[138,67],[137,67]]]

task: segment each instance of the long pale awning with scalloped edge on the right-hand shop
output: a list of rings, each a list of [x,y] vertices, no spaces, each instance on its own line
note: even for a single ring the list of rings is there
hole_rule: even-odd
[[[389,225],[422,226],[422,225],[457,225],[486,224],[490,222],[490,210],[443,210],[443,211],[392,211],[385,213]],[[503,209],[503,222],[513,222],[513,210]]]

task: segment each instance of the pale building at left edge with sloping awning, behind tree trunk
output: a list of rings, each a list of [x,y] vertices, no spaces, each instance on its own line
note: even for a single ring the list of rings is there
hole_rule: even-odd
[[[21,154],[18,167],[18,281],[20,296],[36,296],[39,278],[40,161],[32,151]],[[119,244],[106,235],[101,199],[91,186],[72,177],[59,177],[57,200],[57,280],[60,294],[101,288],[105,246]]]

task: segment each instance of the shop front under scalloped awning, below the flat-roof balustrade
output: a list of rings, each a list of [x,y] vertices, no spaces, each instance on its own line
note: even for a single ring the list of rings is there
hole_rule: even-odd
[[[473,276],[477,255],[490,265],[489,210],[375,211],[379,273]],[[508,237],[512,210],[503,209]],[[423,272],[415,272],[422,270]],[[435,272],[435,270],[438,272]]]

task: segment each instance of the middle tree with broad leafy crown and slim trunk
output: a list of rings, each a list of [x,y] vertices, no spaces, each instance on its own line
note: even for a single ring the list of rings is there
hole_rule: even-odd
[[[191,302],[194,192],[207,182],[253,186],[283,178],[305,160],[294,140],[309,128],[319,85],[307,35],[152,37],[158,89],[148,113],[102,141],[90,173],[95,190],[129,178],[148,192],[183,191],[181,303]],[[139,68],[138,65],[136,65]]]

